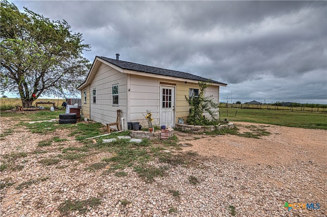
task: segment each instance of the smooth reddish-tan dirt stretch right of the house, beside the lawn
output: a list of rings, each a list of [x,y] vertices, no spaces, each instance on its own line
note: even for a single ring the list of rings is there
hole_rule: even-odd
[[[241,161],[246,165],[287,165],[295,162],[315,162],[327,165],[327,132],[320,129],[303,129],[268,124],[234,122],[240,132],[250,131],[246,126],[266,129],[269,135],[261,139],[239,137],[238,135],[193,135],[195,140],[185,140],[191,146],[185,151],[195,151],[203,156],[220,156]],[[182,134],[183,135],[183,134]],[[192,137],[192,135],[188,135]],[[191,139],[191,138],[190,138]]]

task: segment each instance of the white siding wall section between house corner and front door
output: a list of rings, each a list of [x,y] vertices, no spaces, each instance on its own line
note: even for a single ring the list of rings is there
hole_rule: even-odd
[[[148,124],[142,115],[151,111],[153,125],[159,125],[159,81],[157,78],[130,75],[129,77],[129,117],[130,122]]]

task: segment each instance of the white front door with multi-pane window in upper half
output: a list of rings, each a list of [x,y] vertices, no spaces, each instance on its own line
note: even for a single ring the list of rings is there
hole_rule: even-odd
[[[160,86],[160,126],[175,126],[175,87]]]

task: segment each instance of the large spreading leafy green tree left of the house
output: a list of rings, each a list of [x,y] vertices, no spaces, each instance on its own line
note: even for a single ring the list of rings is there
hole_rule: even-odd
[[[53,21],[27,8],[20,12],[1,1],[1,84],[2,92],[16,92],[22,105],[30,107],[42,95],[75,95],[90,63],[82,57],[88,44],[71,26]]]

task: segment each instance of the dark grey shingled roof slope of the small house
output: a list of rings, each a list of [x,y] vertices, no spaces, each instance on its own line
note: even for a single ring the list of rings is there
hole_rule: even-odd
[[[106,58],[106,57],[98,56],[98,58],[100,58],[104,61],[107,61],[108,63],[111,63],[115,66],[118,66],[122,69],[128,69],[128,70],[139,71],[139,72],[147,72],[147,73],[151,73],[151,74],[166,75],[166,76],[172,76],[172,77],[179,77],[179,78],[185,78],[185,79],[191,79],[191,80],[200,80],[202,82],[206,82],[208,80],[208,78],[200,77],[200,76],[186,73],[186,72],[162,69],[162,68],[157,68],[157,67],[153,67],[153,66],[146,66],[146,65],[141,65],[141,64],[137,64],[137,63],[121,61],[121,60],[114,60],[114,59],[110,59],[110,58]],[[210,82],[226,85],[224,83],[217,82],[216,80],[211,80]]]

